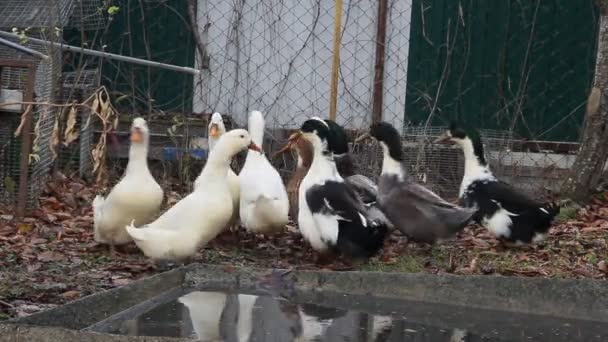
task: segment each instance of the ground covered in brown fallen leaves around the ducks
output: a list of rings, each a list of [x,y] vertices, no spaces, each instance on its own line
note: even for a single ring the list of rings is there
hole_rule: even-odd
[[[57,174],[40,209],[21,223],[0,207],[0,319],[24,316],[157,272],[134,245],[112,257],[93,240],[90,203],[98,189]],[[167,191],[169,204],[178,200]],[[227,231],[197,262],[231,266],[368,270],[522,277],[608,277],[608,194],[580,212],[562,212],[543,246],[507,248],[480,227],[429,246],[394,233],[381,255],[351,266],[340,260],[319,266],[296,227],[263,237]]]

